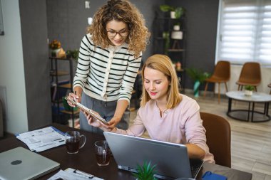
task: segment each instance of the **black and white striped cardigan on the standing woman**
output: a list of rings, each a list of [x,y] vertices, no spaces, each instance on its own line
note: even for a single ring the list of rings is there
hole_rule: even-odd
[[[80,86],[86,95],[97,100],[127,100],[130,102],[142,54],[135,58],[128,44],[95,46],[91,34],[81,41],[73,88]]]

